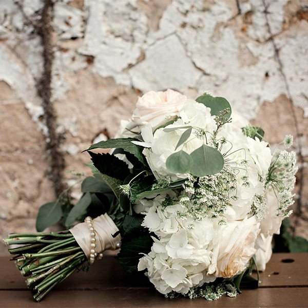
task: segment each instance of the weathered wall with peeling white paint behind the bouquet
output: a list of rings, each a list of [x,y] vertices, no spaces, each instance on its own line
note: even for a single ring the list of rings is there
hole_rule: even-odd
[[[90,173],[80,152],[170,87],[227,98],[274,144],[294,135],[307,237],[307,55],[307,0],[1,0],[0,236],[34,229],[67,171]]]

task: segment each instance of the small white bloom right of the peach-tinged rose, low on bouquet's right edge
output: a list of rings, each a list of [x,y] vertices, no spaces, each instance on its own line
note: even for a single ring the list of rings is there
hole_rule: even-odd
[[[260,233],[257,237],[255,255],[259,271],[265,271],[266,263],[272,257],[272,239],[272,235],[265,237],[263,233]]]

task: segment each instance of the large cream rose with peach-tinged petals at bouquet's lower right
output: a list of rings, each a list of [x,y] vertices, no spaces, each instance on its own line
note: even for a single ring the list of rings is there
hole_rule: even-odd
[[[212,263],[216,263],[216,277],[229,278],[244,271],[247,262],[256,252],[259,225],[253,216],[242,221],[229,221],[220,227],[216,240],[219,248],[216,248],[216,252],[214,248],[212,257]]]

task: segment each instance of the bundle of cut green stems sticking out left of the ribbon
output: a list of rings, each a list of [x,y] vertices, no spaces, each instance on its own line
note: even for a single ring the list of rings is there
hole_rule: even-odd
[[[10,234],[4,242],[14,245],[9,253],[21,274],[27,277],[27,286],[34,292],[36,301],[41,301],[57,284],[86,265],[85,254],[68,230]]]

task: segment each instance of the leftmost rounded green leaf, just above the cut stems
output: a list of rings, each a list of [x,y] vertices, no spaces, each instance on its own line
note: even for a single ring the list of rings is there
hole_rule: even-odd
[[[43,204],[38,209],[36,217],[36,230],[42,232],[47,227],[50,227],[57,223],[62,217],[62,209],[59,201],[48,202]]]

